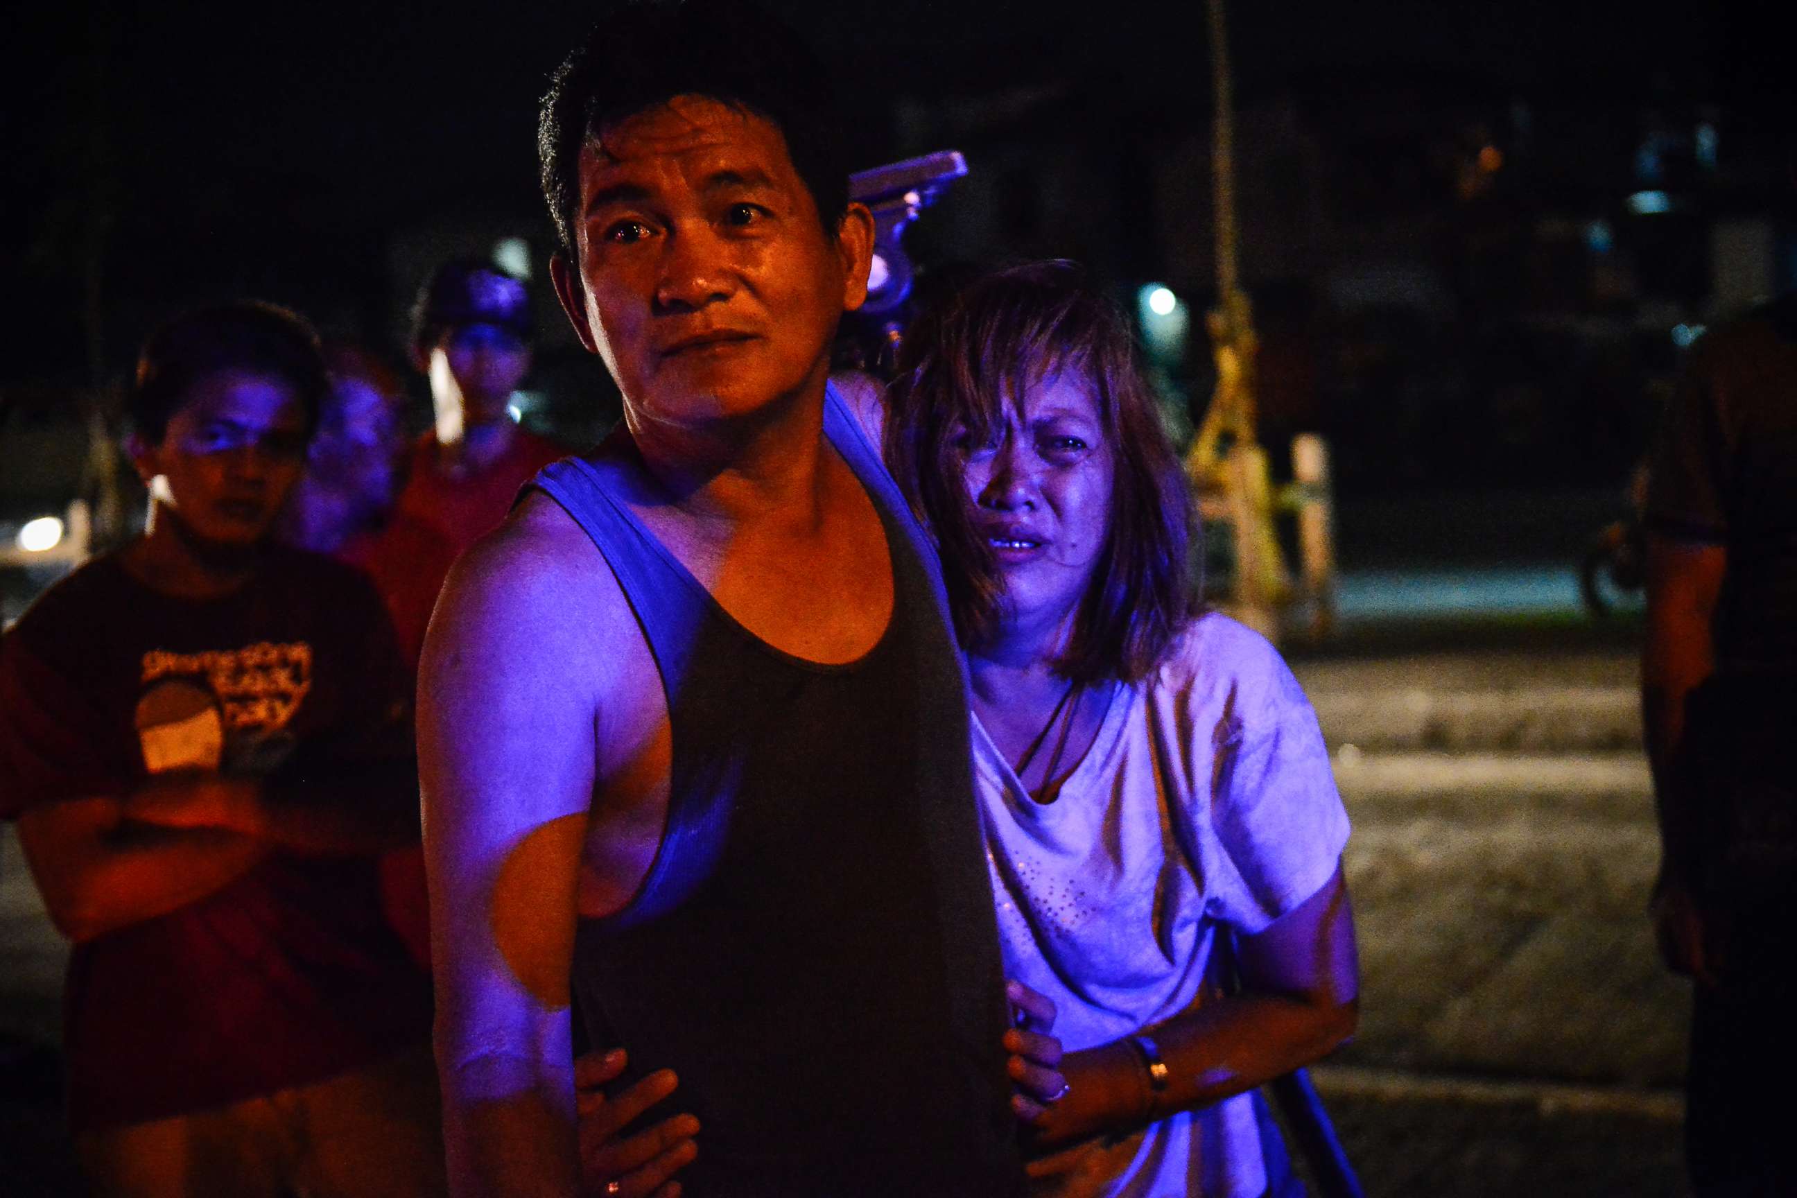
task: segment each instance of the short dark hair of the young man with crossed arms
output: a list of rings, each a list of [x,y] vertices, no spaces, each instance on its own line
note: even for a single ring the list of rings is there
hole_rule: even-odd
[[[194,383],[223,370],[284,379],[305,408],[307,433],[318,424],[331,388],[318,334],[284,307],[237,300],[192,309],[149,334],[126,397],[131,431],[160,444]]]

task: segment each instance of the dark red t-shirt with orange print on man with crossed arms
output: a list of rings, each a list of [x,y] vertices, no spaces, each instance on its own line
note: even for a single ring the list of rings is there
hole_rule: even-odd
[[[248,584],[203,602],[99,557],[0,641],[14,812],[124,796],[165,771],[390,767],[410,738],[379,598],[313,553],[270,550]],[[376,859],[273,851],[198,902],[74,947],[68,1115],[90,1130],[320,1081],[426,1044],[429,1011],[429,977],[381,914]]]

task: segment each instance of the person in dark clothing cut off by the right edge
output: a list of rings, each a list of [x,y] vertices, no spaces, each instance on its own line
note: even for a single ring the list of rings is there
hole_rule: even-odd
[[[1655,920],[1696,979],[1687,1153],[1700,1194],[1797,1193],[1797,296],[1705,336],[1648,492],[1642,706]]]

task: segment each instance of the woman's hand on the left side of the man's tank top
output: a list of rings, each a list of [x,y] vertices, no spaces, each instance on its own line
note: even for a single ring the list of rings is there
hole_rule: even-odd
[[[699,1155],[699,1121],[674,1115],[625,1137],[633,1119],[679,1085],[672,1069],[638,1079],[616,1097],[604,1085],[624,1072],[624,1049],[588,1053],[573,1063],[575,1108],[580,1115],[580,1191],[588,1198],[677,1198],[672,1180]]]

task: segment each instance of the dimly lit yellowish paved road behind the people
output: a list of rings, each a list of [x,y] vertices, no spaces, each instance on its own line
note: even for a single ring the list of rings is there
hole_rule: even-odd
[[[1355,823],[1362,1026],[1315,1081],[1368,1193],[1682,1194],[1687,995],[1642,916],[1632,661],[1511,647],[1297,672]],[[0,1045],[54,1042],[61,961],[0,833]],[[58,1193],[54,1074],[41,1053],[11,1072],[0,1193]]]

